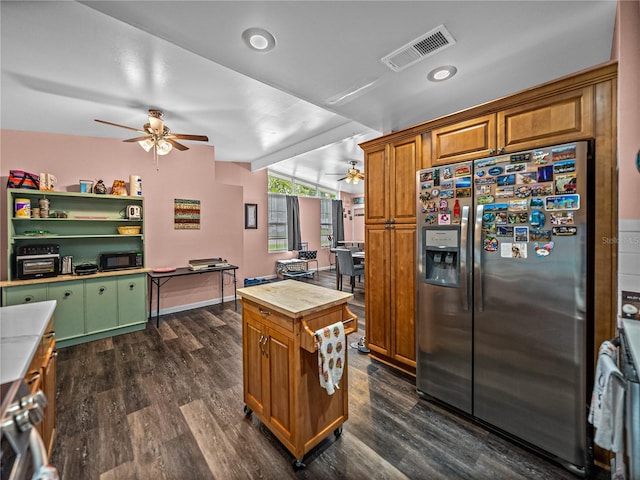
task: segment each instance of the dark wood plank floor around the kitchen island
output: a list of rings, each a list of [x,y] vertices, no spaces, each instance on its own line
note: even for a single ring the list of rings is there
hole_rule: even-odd
[[[332,272],[310,281],[335,288]],[[355,342],[362,284],[350,308]],[[295,472],[289,452],[243,412],[240,304],[164,315],[159,328],[60,349],[51,462],[64,480],[577,478],[420,399],[412,377],[366,354],[350,349],[348,366],[343,434]]]

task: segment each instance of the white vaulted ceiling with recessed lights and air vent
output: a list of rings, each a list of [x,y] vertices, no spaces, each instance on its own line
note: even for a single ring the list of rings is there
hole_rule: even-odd
[[[363,169],[358,143],[608,61],[615,9],[615,0],[3,0],[0,121],[125,139],[131,132],[93,119],[139,128],[158,108],[173,132],[207,135],[219,161],[359,193],[362,183],[326,175],[350,160]],[[454,45],[401,72],[380,61],[441,24]],[[247,48],[250,27],[270,31],[276,48]],[[439,65],[458,73],[428,82]]]

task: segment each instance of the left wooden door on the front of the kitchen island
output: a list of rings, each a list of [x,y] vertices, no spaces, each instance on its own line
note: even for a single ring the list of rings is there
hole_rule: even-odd
[[[244,403],[258,415],[264,415],[263,346],[264,325],[251,316],[243,305],[242,355]]]

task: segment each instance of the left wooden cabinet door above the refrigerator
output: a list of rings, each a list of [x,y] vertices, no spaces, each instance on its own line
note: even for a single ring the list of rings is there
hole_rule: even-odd
[[[496,116],[485,115],[431,131],[431,166],[487,157],[496,150]]]

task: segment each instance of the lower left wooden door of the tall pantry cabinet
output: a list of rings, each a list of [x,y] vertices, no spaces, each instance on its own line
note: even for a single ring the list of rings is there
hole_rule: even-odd
[[[389,232],[388,225],[367,225],[365,229],[366,337],[369,348],[385,356],[391,355]]]

